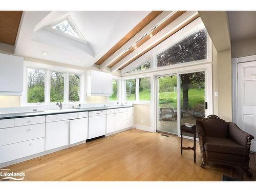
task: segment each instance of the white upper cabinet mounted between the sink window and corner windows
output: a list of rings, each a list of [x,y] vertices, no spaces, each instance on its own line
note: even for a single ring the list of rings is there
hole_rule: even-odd
[[[90,70],[86,72],[87,95],[112,95],[112,74]]]

